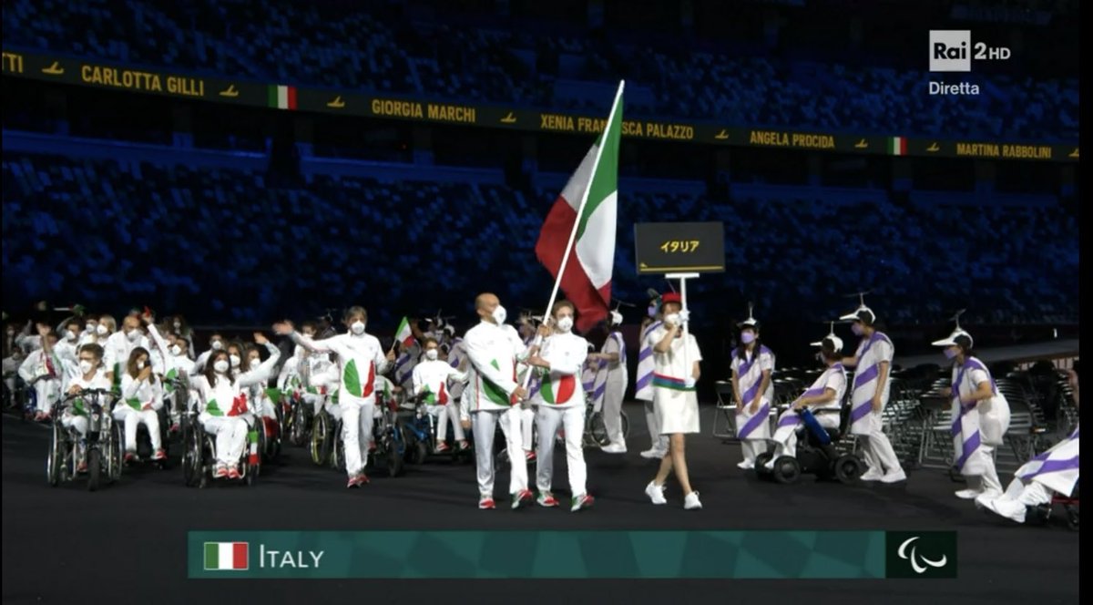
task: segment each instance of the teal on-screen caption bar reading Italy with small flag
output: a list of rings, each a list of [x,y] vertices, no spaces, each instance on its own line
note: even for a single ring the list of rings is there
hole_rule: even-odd
[[[240,542],[246,569],[205,570],[207,543]],[[862,531],[188,534],[191,579],[878,579],[885,565],[885,533]]]

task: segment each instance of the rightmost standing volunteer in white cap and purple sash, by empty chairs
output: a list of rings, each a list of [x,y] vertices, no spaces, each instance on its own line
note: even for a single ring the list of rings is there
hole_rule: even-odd
[[[1002,435],[1010,428],[1010,405],[998,392],[987,367],[974,357],[971,334],[957,326],[948,338],[935,340],[933,346],[944,347],[945,357],[953,360],[953,466],[968,484],[956,497],[997,498],[1002,484],[995,470],[995,447],[1002,444]]]

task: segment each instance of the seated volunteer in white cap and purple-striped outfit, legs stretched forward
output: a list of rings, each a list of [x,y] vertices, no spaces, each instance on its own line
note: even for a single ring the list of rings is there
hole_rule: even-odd
[[[798,412],[802,408],[811,408],[821,427],[825,429],[838,428],[839,409],[843,395],[846,394],[846,370],[839,363],[839,357],[843,353],[843,339],[834,334],[828,334],[823,340],[812,342],[812,346],[820,347],[816,359],[826,369],[812,383],[812,386],[801,393],[790,404],[789,409],[778,417],[778,427],[772,439],[775,447],[774,456],[767,461],[767,469],[773,470],[780,456],[797,457],[797,430],[804,422]]]

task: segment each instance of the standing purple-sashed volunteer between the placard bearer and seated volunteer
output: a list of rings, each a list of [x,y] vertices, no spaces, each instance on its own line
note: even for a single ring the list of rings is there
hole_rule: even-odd
[[[732,395],[737,404],[737,439],[743,461],[737,466],[755,468],[755,456],[766,452],[771,439],[771,400],[774,388],[774,353],[760,340],[759,322],[752,317],[738,324],[740,347],[732,354]]]

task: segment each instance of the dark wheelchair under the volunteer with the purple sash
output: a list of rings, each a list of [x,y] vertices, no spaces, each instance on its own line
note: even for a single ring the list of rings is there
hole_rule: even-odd
[[[837,479],[844,485],[857,481],[863,466],[861,459],[854,453],[841,454],[835,447],[842,438],[841,429],[845,421],[841,422],[839,429],[825,429],[816,421],[812,410],[804,408],[799,415],[804,426],[798,429],[798,433],[804,432],[806,438],[798,439],[797,456],[779,456],[774,461],[774,469],[768,470],[766,464],[774,453],[764,452],[755,457],[755,473],[784,485],[796,482],[802,474],[825,480]]]

